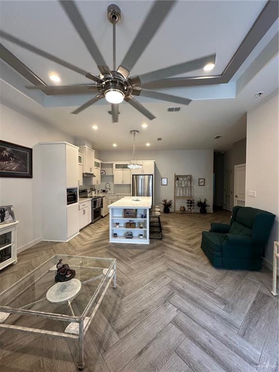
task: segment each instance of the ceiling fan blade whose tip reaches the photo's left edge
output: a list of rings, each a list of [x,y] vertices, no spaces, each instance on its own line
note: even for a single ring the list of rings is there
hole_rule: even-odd
[[[69,62],[63,61],[62,59],[60,59],[60,58],[58,58],[56,56],[53,56],[50,53],[44,52],[44,50],[39,49],[37,47],[34,47],[31,44],[28,44],[25,41],[20,40],[17,37],[15,37],[15,36],[7,33],[7,32],[4,32],[4,31],[1,31],[0,30],[0,37],[2,37],[3,39],[8,40],[8,41],[10,41],[10,42],[18,45],[19,47],[23,47],[23,48],[25,48],[27,50],[30,50],[31,52],[33,52],[35,54],[38,54],[41,57],[47,58],[47,60],[50,60],[50,61],[56,62],[58,64],[61,64],[62,66],[66,67],[66,68],[68,68],[70,70],[73,70],[73,71],[77,72],[78,74],[81,74],[83,76],[86,76],[88,74],[88,71],[85,71],[82,68],[79,68],[77,66],[74,66],[73,64],[71,64]],[[91,74],[91,75],[94,76],[93,74]],[[91,79],[93,80],[93,78],[91,78]],[[98,78],[97,76],[95,76],[94,81],[99,81],[99,80],[100,80],[100,78]]]

